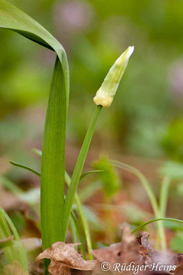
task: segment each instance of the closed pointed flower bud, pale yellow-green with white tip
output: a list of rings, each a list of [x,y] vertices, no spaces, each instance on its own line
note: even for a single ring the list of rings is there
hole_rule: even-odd
[[[121,78],[127,67],[128,60],[132,53],[134,52],[134,46],[128,47],[121,56],[117,59],[114,65],[110,68],[106,78],[103,80],[103,83],[93,101],[97,105],[103,107],[110,107],[112,100],[117,92],[117,88],[121,81]]]

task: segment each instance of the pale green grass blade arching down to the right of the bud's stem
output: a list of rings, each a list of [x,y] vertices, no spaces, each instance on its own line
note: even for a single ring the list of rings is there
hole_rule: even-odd
[[[156,219],[159,219],[160,218],[160,210],[158,207],[158,201],[154,195],[153,189],[151,188],[151,186],[149,184],[149,181],[146,179],[146,177],[143,175],[143,173],[141,173],[138,169],[136,169],[130,165],[123,164],[122,162],[117,162],[115,160],[110,160],[110,162],[118,168],[130,171],[131,173],[136,175],[138,177],[138,179],[140,179],[141,184],[143,184],[143,188],[145,188],[145,191],[147,192],[149,201],[151,202],[151,206],[154,210],[154,216],[156,217]],[[158,222],[158,236],[159,236],[159,241],[160,241],[162,250],[166,250],[166,238],[165,238],[164,226],[161,221]]]

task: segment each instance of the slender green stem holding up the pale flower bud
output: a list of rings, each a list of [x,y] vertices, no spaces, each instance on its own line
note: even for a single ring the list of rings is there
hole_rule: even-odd
[[[99,116],[99,113],[101,111],[101,106],[97,106],[95,109],[95,113],[93,115],[93,118],[90,122],[90,126],[88,127],[88,131],[86,133],[86,137],[84,139],[84,142],[82,144],[82,148],[80,151],[80,155],[77,158],[77,162],[75,164],[75,169],[73,171],[73,176],[71,178],[71,184],[69,186],[69,190],[66,195],[66,200],[64,203],[64,219],[63,219],[63,232],[64,232],[64,239],[66,237],[66,230],[69,225],[69,217],[71,214],[71,209],[73,206],[73,201],[75,198],[75,192],[77,190],[77,185],[79,184],[80,177],[82,175],[82,169],[84,166],[84,162],[86,159],[86,155],[88,153],[88,148],[90,146],[91,139],[93,137],[93,132],[95,129],[95,125],[97,123],[97,118]]]

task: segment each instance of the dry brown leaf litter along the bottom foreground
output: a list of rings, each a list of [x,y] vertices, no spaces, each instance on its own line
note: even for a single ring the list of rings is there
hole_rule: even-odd
[[[124,224],[122,227],[122,241],[107,248],[93,250],[92,254],[95,256],[93,261],[85,261],[75,251],[75,246],[79,243],[66,244],[60,241],[53,243],[51,248],[47,248],[40,253],[36,261],[45,258],[50,259],[48,270],[51,275],[107,275],[120,273],[125,275],[182,275],[183,254],[159,252],[151,247],[148,238],[149,234],[147,232],[143,232],[138,237],[134,236],[130,232],[130,227]],[[110,265],[110,270],[102,270],[103,262]],[[134,269],[132,269],[133,265]],[[159,270],[160,265],[163,266],[162,270]],[[173,266],[174,270],[171,270]]]

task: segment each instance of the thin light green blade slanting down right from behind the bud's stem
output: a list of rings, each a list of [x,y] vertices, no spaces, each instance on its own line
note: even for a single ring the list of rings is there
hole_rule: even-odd
[[[71,177],[69,177],[69,174],[66,173],[66,171],[65,171],[65,181],[66,181],[66,184],[68,186],[70,186]],[[87,249],[88,249],[88,256],[89,256],[89,259],[92,260],[93,255],[90,253],[90,251],[92,250],[92,241],[91,241],[91,237],[90,237],[90,230],[89,230],[87,219],[84,214],[84,210],[82,208],[82,203],[80,201],[80,197],[77,194],[77,192],[75,192],[75,203],[77,206],[77,210],[80,213],[80,218],[82,220],[82,224],[83,224],[83,228],[84,228],[84,234],[86,236],[86,245],[87,245]]]

